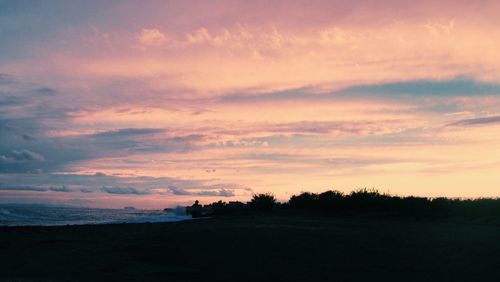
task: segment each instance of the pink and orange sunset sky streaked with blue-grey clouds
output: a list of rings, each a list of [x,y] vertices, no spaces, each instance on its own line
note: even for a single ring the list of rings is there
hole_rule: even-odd
[[[0,203],[498,197],[499,10],[0,0]]]

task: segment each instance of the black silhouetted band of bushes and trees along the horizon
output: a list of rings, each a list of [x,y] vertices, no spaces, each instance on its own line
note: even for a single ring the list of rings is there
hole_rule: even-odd
[[[500,217],[500,199],[453,199],[400,197],[374,189],[351,193],[329,190],[323,193],[303,192],[288,202],[279,203],[271,193],[255,194],[248,203],[218,201],[201,206],[196,202],[187,208],[194,217],[244,215],[258,213],[293,213],[324,215],[409,215],[414,217],[461,216],[469,218]]]

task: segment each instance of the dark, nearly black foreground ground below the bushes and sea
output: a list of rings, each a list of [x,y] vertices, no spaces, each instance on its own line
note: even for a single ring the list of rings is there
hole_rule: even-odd
[[[1,281],[499,281],[500,225],[240,217],[0,228]]]

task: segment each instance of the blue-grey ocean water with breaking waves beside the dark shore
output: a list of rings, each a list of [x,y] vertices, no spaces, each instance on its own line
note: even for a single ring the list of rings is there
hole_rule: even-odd
[[[173,222],[191,219],[184,209],[172,211],[139,209],[94,209],[43,205],[0,205],[0,226],[53,226]]]

